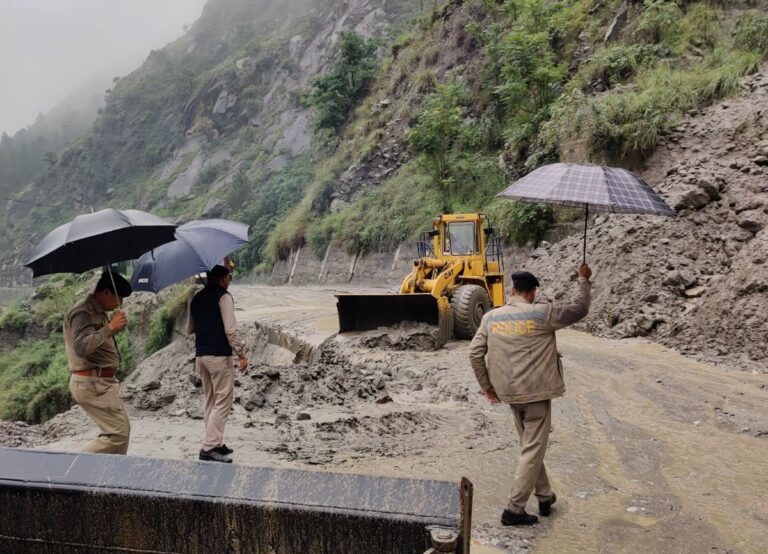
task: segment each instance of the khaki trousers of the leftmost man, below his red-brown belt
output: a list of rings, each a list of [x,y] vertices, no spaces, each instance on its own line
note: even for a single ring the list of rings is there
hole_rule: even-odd
[[[114,378],[72,375],[69,378],[69,392],[101,430],[98,437],[83,447],[83,452],[128,452],[131,422],[120,398],[120,382]]]

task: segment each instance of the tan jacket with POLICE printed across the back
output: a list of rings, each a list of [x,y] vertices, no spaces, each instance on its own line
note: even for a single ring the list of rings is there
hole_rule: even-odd
[[[590,282],[580,278],[579,294],[573,304],[529,304],[512,296],[507,305],[486,313],[469,351],[482,389],[492,388],[508,404],[562,396],[565,381],[555,331],[589,313],[590,291]]]

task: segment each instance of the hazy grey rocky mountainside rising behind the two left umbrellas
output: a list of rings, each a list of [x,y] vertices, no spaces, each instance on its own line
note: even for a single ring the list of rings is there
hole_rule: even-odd
[[[413,4],[211,0],[185,36],[121,79],[93,129],[19,192],[51,207],[9,204],[3,280],[27,281],[21,266],[30,244],[92,207],[221,215],[239,172],[257,182],[307,153],[310,116],[300,92],[333,61],[340,34],[386,44]]]

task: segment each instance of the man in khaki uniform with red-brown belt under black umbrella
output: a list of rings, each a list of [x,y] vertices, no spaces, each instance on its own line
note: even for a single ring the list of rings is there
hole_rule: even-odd
[[[75,304],[64,318],[64,344],[67,350],[69,391],[101,432],[83,448],[84,452],[125,454],[131,424],[120,398],[120,353],[115,335],[125,329],[128,319],[121,310],[112,319],[107,312],[120,305],[132,290],[122,275],[104,272],[96,289]]]

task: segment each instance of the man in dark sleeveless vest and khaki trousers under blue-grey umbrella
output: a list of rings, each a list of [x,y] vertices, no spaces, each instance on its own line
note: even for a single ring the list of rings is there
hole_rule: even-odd
[[[233,450],[224,444],[224,426],[235,396],[234,353],[240,371],[248,367],[237,333],[235,301],[227,291],[229,268],[217,265],[208,272],[208,284],[192,299],[189,333],[195,334],[195,367],[203,382],[205,440],[199,458],[231,463]]]

